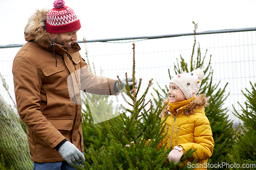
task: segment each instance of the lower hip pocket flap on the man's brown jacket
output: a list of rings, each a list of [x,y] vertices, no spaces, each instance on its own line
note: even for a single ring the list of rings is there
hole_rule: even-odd
[[[57,130],[70,131],[73,127],[73,119],[48,119]]]

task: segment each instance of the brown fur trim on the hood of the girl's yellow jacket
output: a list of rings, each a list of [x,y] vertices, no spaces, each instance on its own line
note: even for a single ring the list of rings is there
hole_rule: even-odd
[[[162,107],[163,111],[161,113],[161,117],[165,117],[168,115],[168,107],[169,107],[169,98],[167,98]],[[204,94],[196,95],[195,99],[190,100],[189,103],[184,107],[183,114],[186,114],[189,116],[190,114],[193,114],[196,109],[202,108],[204,106],[208,105],[208,99],[205,97]]]

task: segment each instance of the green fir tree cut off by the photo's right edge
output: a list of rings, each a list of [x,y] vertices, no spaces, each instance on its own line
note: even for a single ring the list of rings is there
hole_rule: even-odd
[[[233,150],[228,154],[231,164],[226,165],[230,169],[256,169],[256,83],[251,84],[251,92],[247,93],[245,107],[240,103],[242,113],[234,109],[234,115],[243,120],[243,132],[236,134],[236,144]],[[247,130],[245,130],[247,129]],[[235,166],[236,164],[236,166]]]

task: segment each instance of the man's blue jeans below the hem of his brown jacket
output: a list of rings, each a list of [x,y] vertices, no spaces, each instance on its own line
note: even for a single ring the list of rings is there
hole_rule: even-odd
[[[82,162],[76,162],[75,165],[83,165]],[[68,164],[67,161],[53,162],[53,163],[38,163],[34,162],[33,170],[75,170],[75,168]]]

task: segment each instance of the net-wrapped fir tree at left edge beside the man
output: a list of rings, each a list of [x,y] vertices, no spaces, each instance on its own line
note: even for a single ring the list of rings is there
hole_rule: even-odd
[[[0,95],[0,154],[4,156],[7,168],[33,169],[27,135],[19,121]]]

